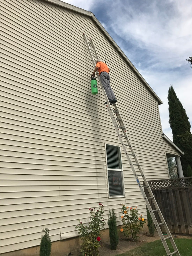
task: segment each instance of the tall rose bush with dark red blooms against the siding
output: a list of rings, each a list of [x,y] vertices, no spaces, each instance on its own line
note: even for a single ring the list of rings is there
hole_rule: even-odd
[[[98,256],[99,241],[101,240],[101,230],[104,229],[104,206],[99,203],[99,210],[89,208],[91,217],[88,225],[79,220],[79,225],[75,227],[82,239],[81,253],[83,256]]]

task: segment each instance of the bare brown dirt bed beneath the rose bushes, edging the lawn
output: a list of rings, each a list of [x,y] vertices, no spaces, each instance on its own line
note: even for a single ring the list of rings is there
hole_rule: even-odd
[[[192,236],[187,236],[187,235],[174,235],[172,234],[173,238],[178,237],[178,238],[190,238],[192,239]],[[155,232],[155,236],[150,236],[148,233],[141,233],[138,236],[138,239],[133,242],[129,239],[121,238],[119,239],[119,244],[117,246],[116,250],[111,250],[110,247],[110,242],[103,243],[101,247],[99,248],[99,255],[100,256],[115,256],[117,254],[122,254],[125,253],[126,251],[132,250],[136,247],[141,246],[142,244],[153,242],[155,240],[160,239],[159,235],[157,232]]]

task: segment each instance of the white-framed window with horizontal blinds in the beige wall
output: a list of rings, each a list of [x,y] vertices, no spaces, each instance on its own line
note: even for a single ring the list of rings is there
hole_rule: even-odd
[[[124,196],[120,147],[106,145],[109,196]]]

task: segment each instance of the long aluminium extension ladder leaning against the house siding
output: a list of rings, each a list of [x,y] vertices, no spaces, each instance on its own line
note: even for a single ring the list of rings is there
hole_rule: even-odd
[[[97,55],[95,46],[94,46],[93,41],[92,41],[91,38],[89,38],[89,41],[88,41],[85,33],[83,33],[83,36],[84,36],[84,40],[85,40],[85,42],[87,44],[87,47],[88,47],[91,59],[93,61],[93,67],[95,68],[95,60],[98,59],[98,55]],[[99,80],[98,72],[97,72],[97,78]],[[145,178],[145,175],[144,175],[144,173],[143,173],[143,171],[141,169],[141,166],[140,166],[140,164],[138,162],[138,159],[136,158],[136,155],[135,155],[135,153],[133,151],[131,143],[130,143],[128,137],[127,137],[126,128],[125,128],[123,120],[122,120],[122,118],[120,116],[120,113],[118,111],[117,105],[115,103],[110,105],[110,102],[108,100],[108,97],[107,97],[107,95],[105,93],[105,90],[104,90],[100,80],[99,80],[99,83],[100,83],[100,85],[102,87],[103,94],[105,96],[105,100],[108,103],[107,109],[109,111],[109,115],[111,117],[111,120],[112,120],[112,123],[113,123],[113,125],[115,127],[115,130],[117,132],[117,136],[118,136],[118,138],[120,140],[121,146],[123,147],[125,155],[127,156],[127,160],[128,160],[128,162],[129,162],[129,164],[131,166],[131,169],[132,169],[133,174],[135,176],[136,182],[139,185],[139,188],[140,188],[140,191],[142,193],[142,196],[145,199],[147,208],[148,208],[149,213],[150,213],[150,215],[151,215],[151,217],[153,219],[153,222],[155,224],[157,232],[158,232],[158,234],[159,234],[159,236],[161,238],[161,241],[163,243],[165,251],[166,251],[168,256],[171,256],[171,255],[180,256],[179,251],[177,249],[177,246],[175,244],[175,241],[173,240],[173,237],[172,237],[172,235],[171,235],[171,233],[169,231],[169,228],[168,228],[168,226],[167,226],[167,224],[166,224],[166,222],[165,222],[165,220],[163,218],[163,215],[162,215],[162,213],[160,211],[160,208],[158,207],[158,204],[157,204],[157,202],[156,202],[156,200],[154,198],[153,192],[150,189],[149,183],[147,182],[147,180]],[[125,143],[124,143],[124,141],[125,141]],[[128,151],[129,151],[129,153],[128,153]],[[141,177],[143,179],[145,185],[141,185],[139,177]],[[147,190],[147,193],[145,193],[144,188],[145,188],[145,190]],[[151,200],[152,203],[153,203],[153,209],[150,206],[149,200]],[[157,215],[157,218],[156,218],[155,214]],[[160,221],[157,221],[157,219],[160,219]],[[161,231],[160,226],[165,231],[164,233]],[[172,245],[172,247],[170,246],[171,249],[169,248],[169,246],[167,244],[167,241],[171,242],[171,245]]]

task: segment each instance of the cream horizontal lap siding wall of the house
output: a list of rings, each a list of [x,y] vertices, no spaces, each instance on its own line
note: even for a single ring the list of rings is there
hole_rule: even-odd
[[[38,0],[1,1],[0,253],[76,235],[88,208],[146,207],[122,152],[126,197],[108,198],[105,143],[120,146],[83,32],[107,52],[111,85],[138,160],[149,179],[168,178],[158,102],[90,13]],[[126,92],[126,93],[125,93]],[[172,153],[177,153],[168,144]],[[118,219],[120,224],[120,218]]]

